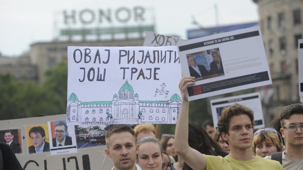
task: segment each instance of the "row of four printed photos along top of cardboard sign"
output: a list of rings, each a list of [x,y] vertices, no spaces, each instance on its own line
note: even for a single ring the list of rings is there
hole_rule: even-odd
[[[77,148],[106,145],[105,128],[106,125],[67,126],[65,120],[52,121],[27,126],[27,134],[23,135],[23,140],[27,140],[25,149],[28,149],[29,154],[51,152],[53,155],[62,150],[64,153],[72,153],[76,152]],[[16,154],[22,153],[21,129],[0,130],[0,135],[3,136],[0,142],[10,145]]]

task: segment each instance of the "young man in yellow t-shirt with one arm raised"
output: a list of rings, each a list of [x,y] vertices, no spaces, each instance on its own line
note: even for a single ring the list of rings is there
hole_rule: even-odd
[[[234,104],[222,110],[218,120],[218,131],[223,140],[228,142],[230,153],[221,156],[204,155],[188,145],[188,109],[187,87],[195,83],[195,77],[182,77],[179,88],[182,106],[175,132],[175,151],[192,169],[283,169],[279,162],[266,160],[252,154],[254,138],[254,115],[251,109]]]

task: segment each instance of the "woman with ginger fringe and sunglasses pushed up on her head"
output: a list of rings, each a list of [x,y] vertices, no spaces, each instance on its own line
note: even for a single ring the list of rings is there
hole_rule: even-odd
[[[273,128],[258,129],[254,133],[252,146],[256,155],[263,158],[271,153],[284,151],[284,146],[279,140],[278,132]]]

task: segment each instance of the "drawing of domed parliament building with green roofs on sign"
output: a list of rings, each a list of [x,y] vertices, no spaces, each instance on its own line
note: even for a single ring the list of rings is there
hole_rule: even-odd
[[[97,124],[175,124],[181,108],[178,94],[167,101],[142,101],[128,81],[112,101],[81,102],[75,93],[67,101],[67,122]]]

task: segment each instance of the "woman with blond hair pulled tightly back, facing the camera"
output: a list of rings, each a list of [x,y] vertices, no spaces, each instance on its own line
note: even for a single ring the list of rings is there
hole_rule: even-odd
[[[137,147],[136,160],[142,170],[162,170],[162,145],[157,138],[144,137],[137,142]]]

